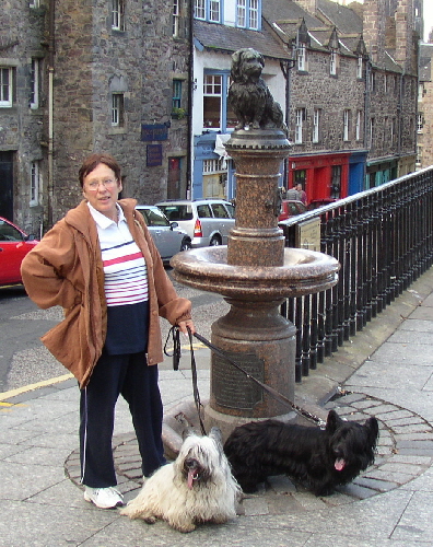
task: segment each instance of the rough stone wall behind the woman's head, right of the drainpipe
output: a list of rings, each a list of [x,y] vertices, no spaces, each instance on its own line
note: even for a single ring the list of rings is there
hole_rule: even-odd
[[[80,197],[77,173],[93,151],[112,153],[126,176],[124,197],[153,203],[166,197],[168,158],[184,156],[186,186],[187,118],[172,120],[173,78],[185,81],[188,43],[174,39],[172,4],[127,2],[125,31],[110,25],[109,2],[61,0],[56,8],[56,187],[55,216]],[[187,36],[187,35],[186,35]],[[125,96],[122,127],[112,126],[112,92]],[[141,125],[166,124],[162,165],[147,165]]]

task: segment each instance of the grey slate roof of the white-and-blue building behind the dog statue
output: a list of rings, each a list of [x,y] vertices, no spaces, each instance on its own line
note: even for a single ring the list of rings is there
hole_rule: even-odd
[[[218,23],[195,20],[194,37],[208,50],[234,53],[253,47],[265,57],[290,59],[291,56],[265,23],[261,31],[249,31]]]

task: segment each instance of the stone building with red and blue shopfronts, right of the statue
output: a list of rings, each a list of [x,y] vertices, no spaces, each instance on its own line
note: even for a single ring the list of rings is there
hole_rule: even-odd
[[[414,171],[413,1],[272,0],[265,14],[294,59],[289,186],[332,199]]]

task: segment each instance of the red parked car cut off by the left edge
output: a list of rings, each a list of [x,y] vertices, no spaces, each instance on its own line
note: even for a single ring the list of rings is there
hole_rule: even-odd
[[[0,287],[22,283],[22,259],[37,243],[33,234],[0,217]]]

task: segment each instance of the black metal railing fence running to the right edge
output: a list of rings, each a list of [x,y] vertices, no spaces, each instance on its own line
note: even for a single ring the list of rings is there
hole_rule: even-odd
[[[433,264],[433,167],[285,221],[285,245],[296,246],[300,230],[315,218],[320,251],[341,269],[332,289],[282,306],[296,326],[296,382]]]

